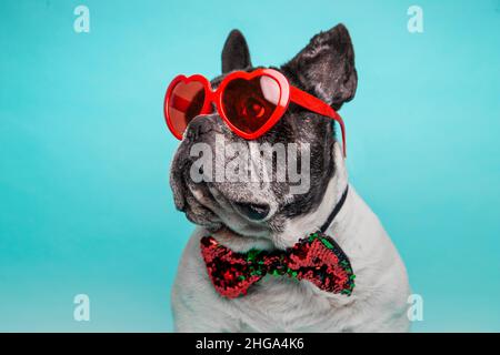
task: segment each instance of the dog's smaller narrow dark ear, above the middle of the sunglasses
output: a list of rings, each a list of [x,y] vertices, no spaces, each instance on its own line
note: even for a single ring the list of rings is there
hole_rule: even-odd
[[[222,73],[251,67],[250,52],[243,34],[232,30],[222,49]]]

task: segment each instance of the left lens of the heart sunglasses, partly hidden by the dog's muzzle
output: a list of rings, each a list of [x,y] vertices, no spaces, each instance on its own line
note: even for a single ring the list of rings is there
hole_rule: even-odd
[[[201,113],[204,103],[204,85],[199,81],[180,81],[169,97],[168,120],[178,135],[182,135],[189,122]]]

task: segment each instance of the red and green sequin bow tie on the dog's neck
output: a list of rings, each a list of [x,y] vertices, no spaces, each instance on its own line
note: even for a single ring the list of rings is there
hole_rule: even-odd
[[[287,251],[234,253],[212,236],[201,239],[201,254],[216,291],[228,298],[270,274],[306,280],[320,290],[350,296],[354,277],[349,258],[328,235],[312,233]]]

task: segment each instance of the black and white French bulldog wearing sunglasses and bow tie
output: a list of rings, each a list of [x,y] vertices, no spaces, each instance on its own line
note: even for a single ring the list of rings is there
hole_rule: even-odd
[[[251,72],[247,41],[231,31],[222,50],[222,75]],[[316,34],[280,68],[290,84],[340,110],[353,99],[358,74],[343,24]],[[377,215],[348,182],[346,156],[332,120],[290,104],[254,143],[309,144],[310,186],[291,193],[288,182],[193,182],[189,171],[197,143],[213,150],[218,138],[248,146],[219,113],[196,116],[174,154],[170,184],[178,210],[197,224],[172,287],[177,332],[407,332],[410,287],[406,267]],[[276,168],[276,166],[274,166]],[[340,203],[341,202],[341,203]],[[330,221],[332,211],[334,219]],[[200,252],[212,236],[232,253],[284,251],[326,225],[324,233],[349,257],[356,273],[351,295],[321,290],[307,280],[267,275],[239,297],[221,296]]]

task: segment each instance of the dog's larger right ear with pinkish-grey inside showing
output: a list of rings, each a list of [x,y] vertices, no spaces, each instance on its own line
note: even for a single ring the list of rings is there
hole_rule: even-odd
[[[343,24],[314,36],[281,69],[289,79],[337,110],[352,100],[358,87],[354,50]]]

